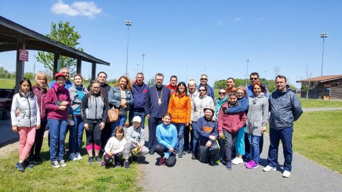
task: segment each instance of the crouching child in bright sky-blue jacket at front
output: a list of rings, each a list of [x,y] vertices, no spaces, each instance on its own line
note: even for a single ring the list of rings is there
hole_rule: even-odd
[[[176,164],[174,151],[178,143],[177,129],[176,126],[170,124],[171,118],[170,113],[163,115],[163,124],[157,126],[156,136],[158,143],[155,146],[155,152],[161,156],[159,165],[166,165],[168,167]]]

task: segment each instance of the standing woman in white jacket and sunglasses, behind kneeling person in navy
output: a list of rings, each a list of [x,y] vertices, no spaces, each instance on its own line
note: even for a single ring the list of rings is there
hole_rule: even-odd
[[[192,159],[196,159],[198,156],[197,121],[205,115],[204,109],[206,106],[214,107],[213,98],[207,96],[207,86],[200,85],[198,92],[200,94],[194,98],[194,102],[192,103],[192,110],[194,110],[194,113],[192,113],[194,114],[194,120],[192,121],[192,130],[194,131]]]

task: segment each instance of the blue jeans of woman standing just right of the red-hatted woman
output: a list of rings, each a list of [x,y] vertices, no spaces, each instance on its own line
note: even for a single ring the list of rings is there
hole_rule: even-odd
[[[70,128],[69,152],[79,152],[83,139],[83,120],[81,116],[73,115],[75,125]]]

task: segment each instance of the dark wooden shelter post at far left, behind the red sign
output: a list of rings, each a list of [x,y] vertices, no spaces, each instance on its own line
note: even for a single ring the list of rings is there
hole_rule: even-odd
[[[25,38],[19,37],[16,41],[16,85],[14,92],[18,93],[19,91],[19,82],[24,77],[24,64],[25,61],[19,60],[19,49],[25,50]]]

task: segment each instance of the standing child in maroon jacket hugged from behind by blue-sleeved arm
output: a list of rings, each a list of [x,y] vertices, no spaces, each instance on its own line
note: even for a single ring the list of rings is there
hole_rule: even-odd
[[[239,129],[244,126],[246,122],[245,112],[240,113],[226,113],[226,110],[231,107],[239,105],[237,102],[237,93],[230,92],[228,94],[228,102],[222,105],[218,118],[218,133],[222,139],[224,139],[224,150],[226,156],[226,168],[232,169],[232,150],[237,138]]]

